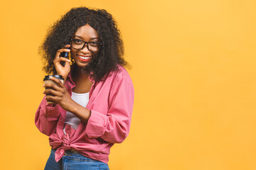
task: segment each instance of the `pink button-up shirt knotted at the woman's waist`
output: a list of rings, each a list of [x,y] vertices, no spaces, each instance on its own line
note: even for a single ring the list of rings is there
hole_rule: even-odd
[[[50,146],[57,149],[55,161],[58,162],[65,150],[76,149],[85,157],[108,162],[110,147],[124,141],[129,133],[134,103],[132,80],[124,67],[119,66],[110,72],[107,79],[95,83],[89,93],[86,108],[91,111],[87,122],[74,130],[70,125],[63,128],[66,111],[59,105],[47,104],[46,96],[36,111],[36,127],[49,136]],[[72,72],[72,70],[71,70]],[[65,87],[70,95],[75,83],[68,74]]]

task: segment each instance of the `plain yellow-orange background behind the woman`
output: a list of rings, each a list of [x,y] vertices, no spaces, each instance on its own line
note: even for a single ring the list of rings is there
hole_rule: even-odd
[[[256,169],[255,0],[0,1],[0,169],[43,169],[48,137],[38,46],[72,7],[119,24],[135,89],[110,169]]]

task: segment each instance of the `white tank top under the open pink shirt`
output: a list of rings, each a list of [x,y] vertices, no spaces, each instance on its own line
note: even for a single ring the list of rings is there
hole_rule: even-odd
[[[86,94],[76,94],[72,91],[71,98],[73,99],[73,101],[75,101],[75,103],[80,104],[82,107],[86,107],[89,101],[89,92]],[[70,113],[69,111],[67,111],[67,114],[65,117],[65,124],[71,125],[71,127],[76,130],[78,128],[79,123],[80,123],[80,119],[77,118],[73,113]],[[65,128],[63,130],[65,133]]]

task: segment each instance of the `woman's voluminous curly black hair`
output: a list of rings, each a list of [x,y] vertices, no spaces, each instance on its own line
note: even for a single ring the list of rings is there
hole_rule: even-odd
[[[72,8],[48,30],[39,52],[45,62],[46,74],[56,74],[53,64],[58,49],[64,47],[79,27],[89,24],[97,30],[102,40],[102,47],[92,61],[87,64],[86,72],[92,72],[95,81],[101,81],[105,75],[117,69],[117,65],[129,66],[124,60],[124,45],[112,15],[105,9],[86,7]]]

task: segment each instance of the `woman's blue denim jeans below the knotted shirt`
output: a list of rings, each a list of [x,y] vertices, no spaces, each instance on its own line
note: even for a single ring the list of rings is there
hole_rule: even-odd
[[[75,152],[65,152],[66,154],[60,159],[59,162],[55,162],[55,150],[51,149],[50,157],[46,162],[45,170],[75,170],[75,169],[89,169],[89,170],[110,170],[109,166],[104,162],[90,159]]]

